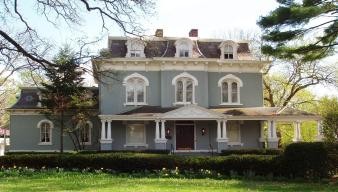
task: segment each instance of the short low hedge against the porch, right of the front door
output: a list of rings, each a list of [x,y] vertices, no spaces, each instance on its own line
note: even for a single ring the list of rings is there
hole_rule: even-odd
[[[220,155],[281,155],[282,153],[282,149],[232,149],[222,150]]]

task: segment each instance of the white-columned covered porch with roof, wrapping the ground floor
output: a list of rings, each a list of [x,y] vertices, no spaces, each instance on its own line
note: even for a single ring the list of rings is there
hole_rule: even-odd
[[[301,141],[301,120],[320,117],[296,110],[267,107],[180,108],[139,107],[118,115],[99,115],[100,150],[167,149],[175,152],[221,152],[240,148],[278,148],[277,121],[295,122],[294,141]],[[293,114],[291,114],[293,113]],[[265,131],[263,123],[267,122]],[[113,126],[112,126],[113,125]],[[117,134],[116,129],[121,129]],[[123,131],[124,130],[124,131]],[[125,134],[125,135],[124,135]],[[118,137],[123,137],[121,139]]]

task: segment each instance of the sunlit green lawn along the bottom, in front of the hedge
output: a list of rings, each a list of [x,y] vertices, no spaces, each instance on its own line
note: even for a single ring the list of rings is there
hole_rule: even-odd
[[[0,191],[338,191],[338,185],[216,179],[135,178],[104,173],[33,173],[0,178]]]

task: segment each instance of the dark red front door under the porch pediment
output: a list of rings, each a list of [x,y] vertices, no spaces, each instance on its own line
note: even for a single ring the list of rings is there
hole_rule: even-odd
[[[194,149],[194,124],[176,124],[176,150]]]

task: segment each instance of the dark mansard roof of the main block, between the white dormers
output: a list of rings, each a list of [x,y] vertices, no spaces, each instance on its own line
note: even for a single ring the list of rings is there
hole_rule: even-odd
[[[110,39],[109,47],[112,57],[125,57],[127,54],[127,40]],[[161,39],[146,41],[144,53],[147,58],[152,57],[174,57],[176,53],[175,47],[176,40]],[[222,41],[193,41],[193,57],[194,58],[220,58],[221,51],[219,45]],[[238,54],[250,53],[248,43],[238,43]]]

